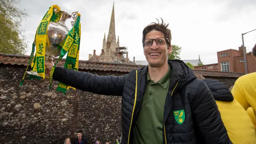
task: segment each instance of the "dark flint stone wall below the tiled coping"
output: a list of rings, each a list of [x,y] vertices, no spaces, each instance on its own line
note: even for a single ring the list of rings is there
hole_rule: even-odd
[[[0,144],[63,144],[65,138],[75,138],[77,129],[89,144],[96,140],[114,144],[121,136],[121,97],[73,89],[65,96],[56,92],[58,82],[49,90],[49,80],[26,80],[20,87],[24,71],[24,67],[0,65]],[[216,80],[230,87],[236,78]]]

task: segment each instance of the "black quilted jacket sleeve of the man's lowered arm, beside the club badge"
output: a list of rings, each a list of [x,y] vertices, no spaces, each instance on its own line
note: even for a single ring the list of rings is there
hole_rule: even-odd
[[[205,82],[200,82],[192,112],[205,144],[232,144],[220,117],[218,106]]]

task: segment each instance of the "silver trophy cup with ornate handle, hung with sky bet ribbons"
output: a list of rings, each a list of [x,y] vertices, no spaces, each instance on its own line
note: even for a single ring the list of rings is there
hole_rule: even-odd
[[[54,10],[57,13],[57,9]],[[54,57],[60,56],[61,47],[58,46],[64,42],[68,32],[68,27],[65,22],[68,18],[73,18],[71,25],[74,26],[77,18],[77,12],[73,12],[71,15],[64,11],[58,11],[60,15],[60,20],[58,22],[50,22],[48,25],[48,38],[49,42],[46,42],[46,53],[45,53],[45,62],[53,62]],[[34,39],[34,44],[36,45],[36,38]],[[39,76],[36,71],[28,72],[30,75]],[[48,76],[47,76],[48,77]]]

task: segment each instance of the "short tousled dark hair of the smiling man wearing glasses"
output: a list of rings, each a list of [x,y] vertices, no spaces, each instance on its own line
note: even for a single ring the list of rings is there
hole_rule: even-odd
[[[150,25],[146,26],[142,32],[142,41],[145,40],[146,38],[146,34],[148,34],[149,32],[151,32],[152,30],[157,30],[160,31],[162,33],[164,33],[164,37],[167,38],[169,40],[169,42],[171,43],[172,40],[172,34],[171,34],[171,30],[168,27],[169,24],[164,23],[164,20],[161,18],[162,23],[159,23],[159,20],[156,18],[156,20],[158,21],[158,23],[152,22]],[[170,43],[166,42],[167,46],[170,46]],[[144,44],[143,44],[144,47]]]

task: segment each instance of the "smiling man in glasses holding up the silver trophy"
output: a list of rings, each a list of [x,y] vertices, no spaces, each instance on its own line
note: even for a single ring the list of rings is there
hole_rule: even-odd
[[[212,94],[171,54],[168,24],[142,32],[148,66],[124,76],[56,68],[53,79],[96,94],[122,96],[122,144],[230,144]],[[47,63],[51,70],[52,64]]]

